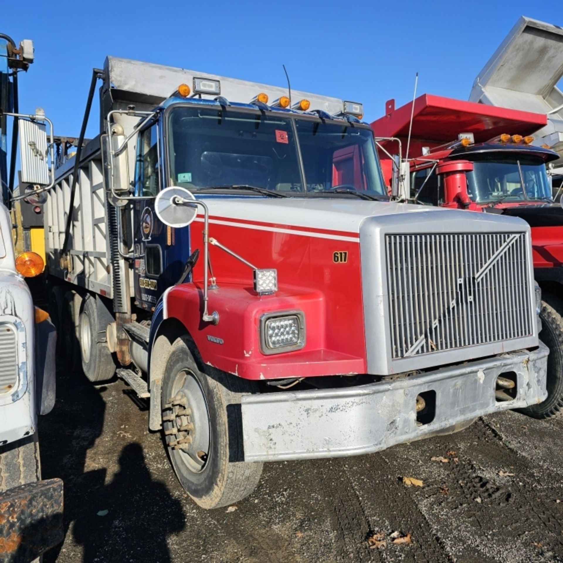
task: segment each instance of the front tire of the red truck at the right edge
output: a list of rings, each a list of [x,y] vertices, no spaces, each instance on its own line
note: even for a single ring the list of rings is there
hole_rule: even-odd
[[[539,405],[520,409],[521,413],[533,418],[560,418],[563,415],[563,319],[552,305],[542,301],[542,310],[539,314],[542,320],[539,339],[549,348],[547,399]]]

